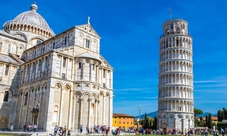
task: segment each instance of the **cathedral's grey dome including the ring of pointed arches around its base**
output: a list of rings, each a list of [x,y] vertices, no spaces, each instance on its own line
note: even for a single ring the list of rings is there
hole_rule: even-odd
[[[36,12],[37,10],[38,6],[36,5],[36,2],[34,2],[30,6],[29,11],[25,11],[15,17],[13,20],[6,22],[3,26],[4,30],[22,30],[41,34],[45,33],[49,35],[47,37],[54,36],[54,32],[50,29],[46,20]],[[36,32],[38,30],[42,31]]]

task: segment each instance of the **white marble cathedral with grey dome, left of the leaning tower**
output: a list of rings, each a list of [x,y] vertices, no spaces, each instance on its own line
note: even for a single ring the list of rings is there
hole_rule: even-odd
[[[37,10],[34,2],[0,30],[0,129],[112,127],[113,67],[90,19],[55,35]]]

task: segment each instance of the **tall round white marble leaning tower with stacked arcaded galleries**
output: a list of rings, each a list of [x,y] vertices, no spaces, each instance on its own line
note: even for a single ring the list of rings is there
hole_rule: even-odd
[[[162,27],[157,125],[184,133],[194,127],[192,37],[185,20],[171,19]]]

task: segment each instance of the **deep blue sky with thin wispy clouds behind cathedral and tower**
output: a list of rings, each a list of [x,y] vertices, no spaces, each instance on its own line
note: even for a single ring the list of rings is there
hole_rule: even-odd
[[[87,23],[102,37],[101,54],[114,67],[114,113],[157,110],[159,36],[162,23],[185,19],[193,37],[195,108],[227,107],[227,1],[225,0],[36,0],[56,34]],[[0,23],[29,10],[33,0],[0,4]]]

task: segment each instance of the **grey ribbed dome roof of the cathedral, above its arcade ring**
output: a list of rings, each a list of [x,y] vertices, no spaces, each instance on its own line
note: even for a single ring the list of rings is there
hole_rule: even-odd
[[[14,25],[18,25],[18,24],[22,24],[22,25],[26,25],[27,27],[36,27],[37,29],[42,29],[44,31],[50,32],[51,35],[54,35],[53,30],[50,29],[48,23],[46,22],[46,20],[36,11],[38,10],[38,6],[36,5],[36,2],[34,2],[31,6],[30,6],[30,10],[29,11],[25,11],[21,14],[19,14],[18,16],[16,16],[13,20],[7,21],[4,24],[4,29],[7,28],[7,26],[10,26],[11,24]],[[8,28],[8,29],[12,29],[12,28]]]

